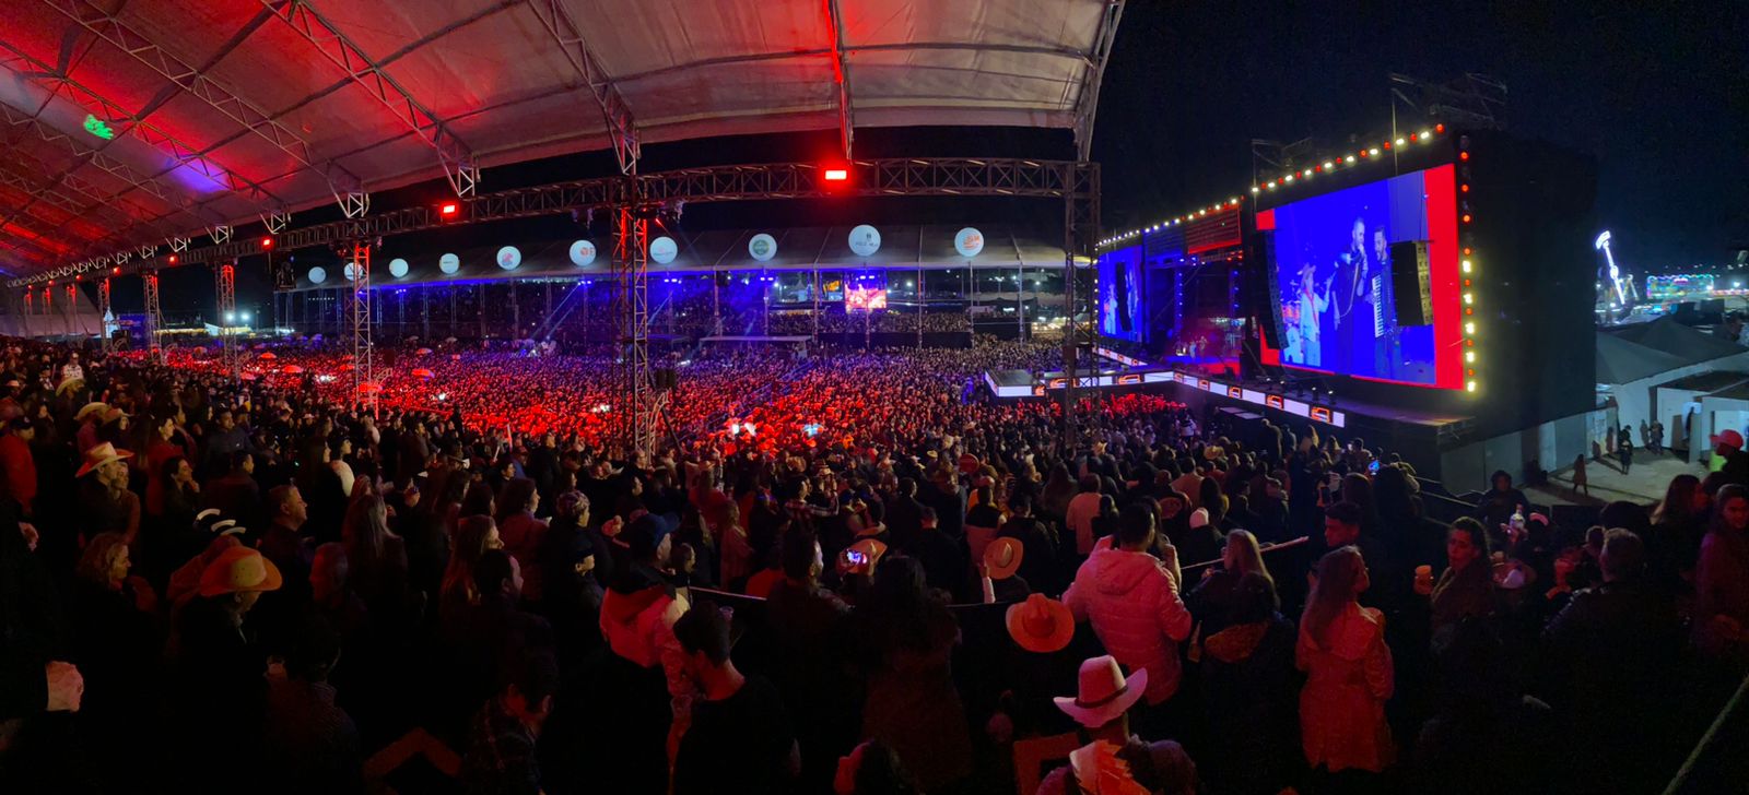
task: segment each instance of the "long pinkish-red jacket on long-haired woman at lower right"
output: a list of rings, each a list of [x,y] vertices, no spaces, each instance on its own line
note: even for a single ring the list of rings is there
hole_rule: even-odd
[[[1350,605],[1324,631],[1324,648],[1300,627],[1294,659],[1307,673],[1300,690],[1300,732],[1307,762],[1331,772],[1383,771],[1394,748],[1385,699],[1396,687],[1383,613]]]

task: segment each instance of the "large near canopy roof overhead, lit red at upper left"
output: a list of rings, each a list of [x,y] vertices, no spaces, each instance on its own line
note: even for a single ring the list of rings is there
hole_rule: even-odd
[[[1084,145],[1121,7],[5,2],[0,271],[442,176],[465,185],[477,168],[616,147],[610,129],[652,143],[1028,126]]]

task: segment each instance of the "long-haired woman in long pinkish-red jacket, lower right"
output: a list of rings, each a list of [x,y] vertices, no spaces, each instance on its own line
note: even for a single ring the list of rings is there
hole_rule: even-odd
[[[1307,764],[1329,772],[1380,772],[1396,750],[1385,701],[1394,690],[1385,619],[1357,601],[1369,585],[1355,547],[1326,554],[1300,617],[1294,660],[1307,673],[1300,734]]]

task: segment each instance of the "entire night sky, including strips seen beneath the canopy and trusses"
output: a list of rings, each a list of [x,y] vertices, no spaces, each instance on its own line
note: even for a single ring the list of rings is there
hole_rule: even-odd
[[[1244,194],[1251,140],[1350,136],[1390,129],[1387,73],[1445,82],[1466,72],[1508,86],[1508,128],[1588,152],[1600,166],[1599,208],[1620,262],[1676,273],[1726,264],[1749,246],[1749,3],[1214,3],[1132,0],[1105,72],[1093,157],[1104,166],[1107,231]],[[820,159],[836,131],[645,147],[645,171],[708,162]],[[1065,131],[859,129],[857,154],[1070,157]],[[586,154],[507,166],[481,190],[612,173]],[[437,203],[442,182],[373,197],[376,208]],[[806,225],[1000,218],[1060,224],[1037,201],[694,204],[684,224]],[[297,225],[338,217],[299,213]],[[888,220],[890,218],[890,220]],[[491,239],[568,236],[568,218],[469,227]],[[462,232],[462,231],[455,231]],[[455,234],[446,232],[446,234]],[[238,234],[245,234],[240,231]],[[439,241],[432,241],[439,243]],[[332,260],[297,252],[299,266]],[[212,306],[206,269],[166,278],[164,311]],[[243,260],[238,299],[268,308],[266,262]],[[131,281],[131,280],[128,280]],[[138,302],[136,287],[115,301]]]

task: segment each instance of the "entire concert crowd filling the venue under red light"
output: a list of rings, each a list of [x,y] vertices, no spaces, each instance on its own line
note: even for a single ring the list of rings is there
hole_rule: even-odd
[[[1445,524],[1319,426],[972,388],[1051,356],[677,362],[644,454],[610,353],[397,351],[371,414],[5,341],[0,790],[1656,792],[1749,671],[1740,437]]]

